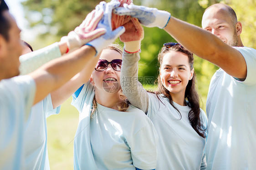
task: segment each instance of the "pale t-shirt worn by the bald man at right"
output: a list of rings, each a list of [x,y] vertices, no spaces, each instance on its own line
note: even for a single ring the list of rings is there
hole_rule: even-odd
[[[246,60],[247,76],[241,82],[219,69],[212,77],[206,102],[209,170],[256,168],[256,50],[234,48]]]

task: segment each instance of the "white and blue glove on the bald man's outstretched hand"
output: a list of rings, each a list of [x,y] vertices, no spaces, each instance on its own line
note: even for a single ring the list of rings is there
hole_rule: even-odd
[[[114,9],[113,13],[117,15],[130,15],[138,18],[139,22],[146,27],[157,26],[161,29],[168,24],[171,17],[171,14],[167,11],[133,4],[123,4],[123,7]]]

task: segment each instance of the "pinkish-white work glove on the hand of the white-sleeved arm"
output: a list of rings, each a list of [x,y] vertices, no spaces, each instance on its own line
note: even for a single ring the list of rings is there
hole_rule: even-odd
[[[69,51],[76,50],[87,44],[87,42],[94,40],[100,35],[105,34],[104,28],[96,29],[98,22],[102,19],[103,10],[93,10],[89,13],[82,24],[76,27],[75,30],[68,33],[67,36],[61,38],[61,41],[65,41]]]

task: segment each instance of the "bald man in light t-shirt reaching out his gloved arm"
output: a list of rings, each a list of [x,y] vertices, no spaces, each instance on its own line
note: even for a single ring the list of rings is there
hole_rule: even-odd
[[[114,12],[164,29],[186,49],[220,67],[206,103],[207,169],[255,169],[256,50],[242,44],[242,24],[235,11],[225,4],[210,6],[203,15],[203,29],[155,8],[124,5]]]

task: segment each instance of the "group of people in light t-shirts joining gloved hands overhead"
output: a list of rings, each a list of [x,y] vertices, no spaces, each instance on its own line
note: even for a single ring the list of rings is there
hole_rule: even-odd
[[[142,25],[178,42],[159,52],[154,92],[138,82]],[[131,0],[102,1],[59,42],[32,52],[0,0],[0,170],[50,169],[46,118],[70,96],[79,111],[76,170],[253,170],[256,50],[241,31],[225,4],[208,7],[199,28]],[[118,37],[123,48],[112,44]],[[193,54],[220,67],[207,115]]]

